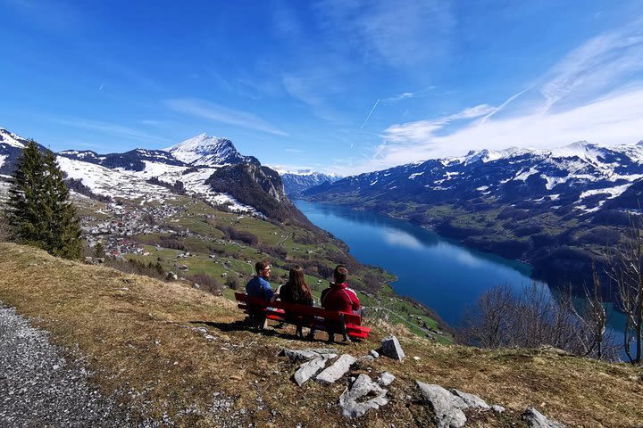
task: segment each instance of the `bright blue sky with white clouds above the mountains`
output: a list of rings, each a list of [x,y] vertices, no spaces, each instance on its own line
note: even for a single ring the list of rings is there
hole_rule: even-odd
[[[0,0],[0,127],[342,174],[643,139],[639,0],[181,3]]]

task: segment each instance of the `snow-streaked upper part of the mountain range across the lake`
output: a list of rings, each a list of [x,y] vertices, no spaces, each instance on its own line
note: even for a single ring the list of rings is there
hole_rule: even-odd
[[[596,211],[643,178],[643,143],[578,142],[552,150],[481,150],[347,177],[309,189],[313,199],[344,193],[380,201],[436,203],[476,198]],[[334,197],[333,196],[333,197]]]

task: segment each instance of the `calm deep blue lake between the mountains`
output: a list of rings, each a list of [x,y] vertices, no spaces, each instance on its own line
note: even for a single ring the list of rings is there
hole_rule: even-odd
[[[411,223],[368,211],[295,201],[313,224],[347,243],[363,263],[397,276],[399,294],[435,309],[450,325],[483,292],[499,284],[516,291],[531,284],[530,267],[473,251]]]

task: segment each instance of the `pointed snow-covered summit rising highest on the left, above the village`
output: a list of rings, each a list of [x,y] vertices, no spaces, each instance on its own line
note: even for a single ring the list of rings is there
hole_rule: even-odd
[[[259,161],[253,156],[244,156],[237,151],[234,144],[226,138],[201,134],[179,144],[164,149],[176,159],[190,165],[222,166],[237,163],[254,163]]]

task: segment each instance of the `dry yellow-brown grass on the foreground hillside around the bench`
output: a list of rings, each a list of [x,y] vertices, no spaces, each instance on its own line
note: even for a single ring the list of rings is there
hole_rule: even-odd
[[[640,369],[554,350],[434,345],[386,324],[373,325],[369,341],[337,345],[365,355],[397,329],[408,357],[355,369],[371,368],[372,377],[388,370],[397,381],[387,407],[345,420],[336,405],[345,383],[298,388],[289,379],[296,367],[277,356],[282,348],[311,344],[281,332],[246,331],[229,300],[10,243],[0,243],[0,269],[0,300],[52,332],[54,342],[84,358],[104,392],[119,394],[145,417],[165,414],[188,426],[431,426],[413,385],[420,380],[479,394],[508,410],[499,418],[472,415],[468,426],[526,426],[519,414],[529,405],[573,427],[643,424]],[[198,326],[215,339],[207,341]],[[212,408],[221,398],[233,402],[230,412]]]

